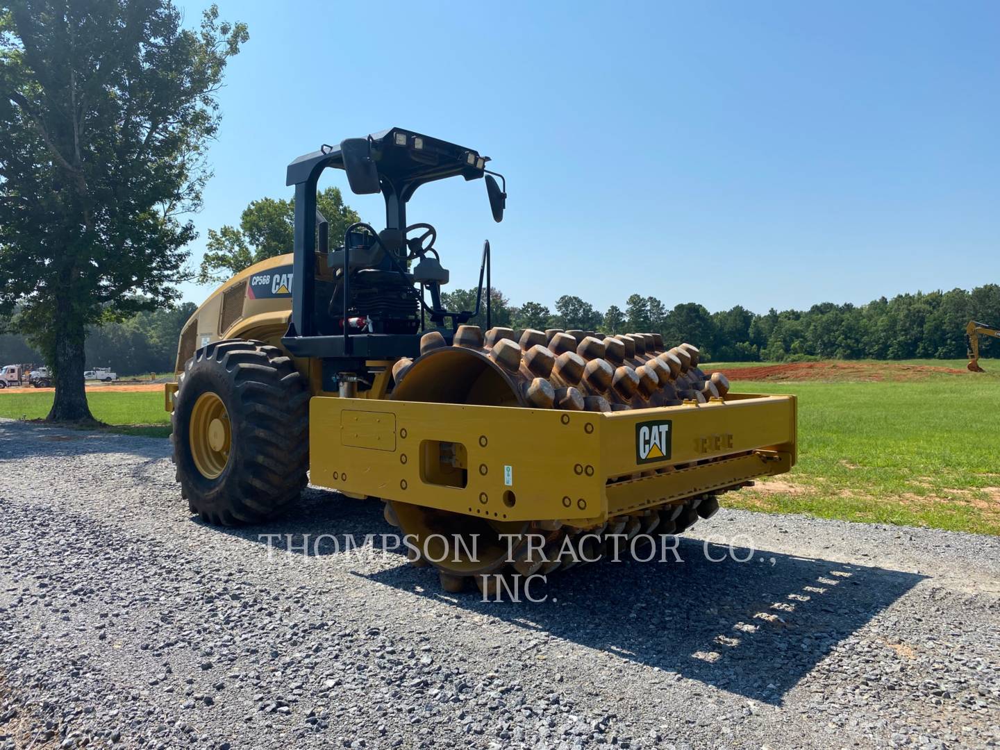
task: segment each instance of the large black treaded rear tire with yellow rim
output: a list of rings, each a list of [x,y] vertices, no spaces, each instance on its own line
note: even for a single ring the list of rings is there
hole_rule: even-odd
[[[199,399],[224,408],[206,421]],[[309,468],[309,389],[280,349],[241,339],[199,349],[173,406],[177,481],[193,513],[225,526],[260,523],[299,497]]]

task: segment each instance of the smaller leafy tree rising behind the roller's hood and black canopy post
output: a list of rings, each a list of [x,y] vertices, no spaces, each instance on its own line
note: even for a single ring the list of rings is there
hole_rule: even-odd
[[[344,232],[356,221],[357,212],[344,203],[340,188],[328,187],[316,193],[316,205],[330,222],[330,244],[343,243]],[[205,257],[198,269],[198,283],[225,281],[254,263],[292,252],[295,231],[295,199],[261,198],[250,201],[240,215],[240,226],[226,224],[208,230]]]

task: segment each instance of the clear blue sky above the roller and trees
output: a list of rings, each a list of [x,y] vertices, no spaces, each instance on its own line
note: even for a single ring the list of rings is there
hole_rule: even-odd
[[[204,5],[182,5],[196,23]],[[1000,281],[1000,3],[219,6],[250,41],[194,262],[209,228],[289,194],[294,157],[396,125],[507,177],[499,225],[480,181],[410,203],[453,288],[486,237],[494,284],[550,306],[763,312]],[[382,226],[380,199],[347,200]]]

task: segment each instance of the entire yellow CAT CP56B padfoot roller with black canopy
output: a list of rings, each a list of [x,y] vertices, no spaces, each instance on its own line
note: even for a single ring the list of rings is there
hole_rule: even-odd
[[[166,408],[192,512],[265,521],[308,471],[384,501],[411,560],[456,591],[680,533],[723,492],[792,467],[795,398],[730,393],[689,343],[491,327],[489,243],[476,309],[443,307],[437,232],[408,225],[407,202],[426,182],[485,178],[500,221],[488,161],[393,128],[292,162],[294,252],[230,279],[181,333]],[[331,246],[316,209],[330,167],[383,195],[384,229],[359,222]],[[468,324],[484,297],[486,330]]]

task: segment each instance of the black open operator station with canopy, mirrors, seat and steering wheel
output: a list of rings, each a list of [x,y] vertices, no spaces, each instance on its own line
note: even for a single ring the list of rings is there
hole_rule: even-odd
[[[489,243],[476,309],[446,310],[441,287],[450,274],[434,247],[437,230],[423,222],[407,224],[406,205],[424,183],[485,177],[493,218],[501,221],[506,181],[486,169],[488,161],[473,149],[393,128],[324,145],[292,162],[287,184],[295,186],[296,283],[284,346],[296,356],[338,360],[331,366],[343,369],[351,363],[342,360],[360,367],[369,359],[416,356],[420,335],[429,330],[450,342],[457,327],[479,312]],[[382,194],[384,229],[357,222],[343,237],[329,237],[329,225],[316,208],[316,186],[328,167],[347,173],[352,192]]]

